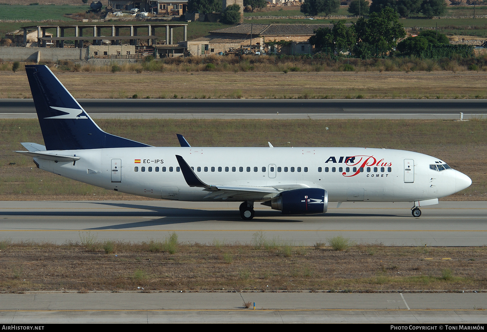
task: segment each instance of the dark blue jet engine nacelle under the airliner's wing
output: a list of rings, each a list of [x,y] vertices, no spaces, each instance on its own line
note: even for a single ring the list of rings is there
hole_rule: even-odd
[[[286,190],[262,204],[280,210],[282,214],[325,213],[328,210],[328,192],[319,188]]]

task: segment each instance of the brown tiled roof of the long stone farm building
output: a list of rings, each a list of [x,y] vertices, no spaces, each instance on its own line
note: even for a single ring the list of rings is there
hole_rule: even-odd
[[[350,25],[350,24],[346,24]],[[332,28],[333,24],[249,24],[244,23],[225,29],[210,31],[210,34],[260,36],[312,36],[319,28]]]

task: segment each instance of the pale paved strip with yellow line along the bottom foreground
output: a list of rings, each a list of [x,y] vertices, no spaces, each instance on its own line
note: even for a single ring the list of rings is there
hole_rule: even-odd
[[[486,307],[487,293],[33,292],[0,294],[0,323],[485,324]]]

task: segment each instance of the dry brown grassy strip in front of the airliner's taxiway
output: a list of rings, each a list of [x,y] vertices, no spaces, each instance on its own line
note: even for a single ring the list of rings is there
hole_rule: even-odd
[[[485,247],[384,247],[346,251],[288,244],[6,244],[0,291],[29,290],[482,290]]]

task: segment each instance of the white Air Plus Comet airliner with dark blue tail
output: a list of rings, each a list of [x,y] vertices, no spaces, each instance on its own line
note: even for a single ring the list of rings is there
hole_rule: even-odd
[[[283,214],[325,213],[328,202],[412,202],[467,188],[470,178],[441,159],[380,148],[157,148],[101,130],[56,76],[25,66],[44,144],[22,143],[40,169],[133,195],[190,202],[254,202]]]

